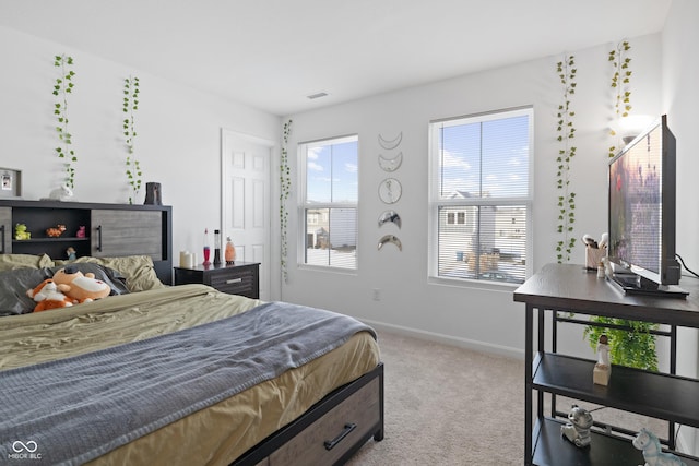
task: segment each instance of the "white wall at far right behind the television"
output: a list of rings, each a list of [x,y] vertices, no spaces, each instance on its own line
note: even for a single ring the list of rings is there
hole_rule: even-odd
[[[673,0],[663,29],[663,111],[677,139],[677,246],[676,250],[687,265],[699,268],[699,134],[697,109],[699,89],[699,57],[695,47],[699,44],[699,2]],[[689,280],[694,278],[683,278]],[[677,371],[687,377],[699,375],[699,336],[697,331],[678,332]],[[679,442],[686,451],[699,454],[699,430],[683,427]]]

